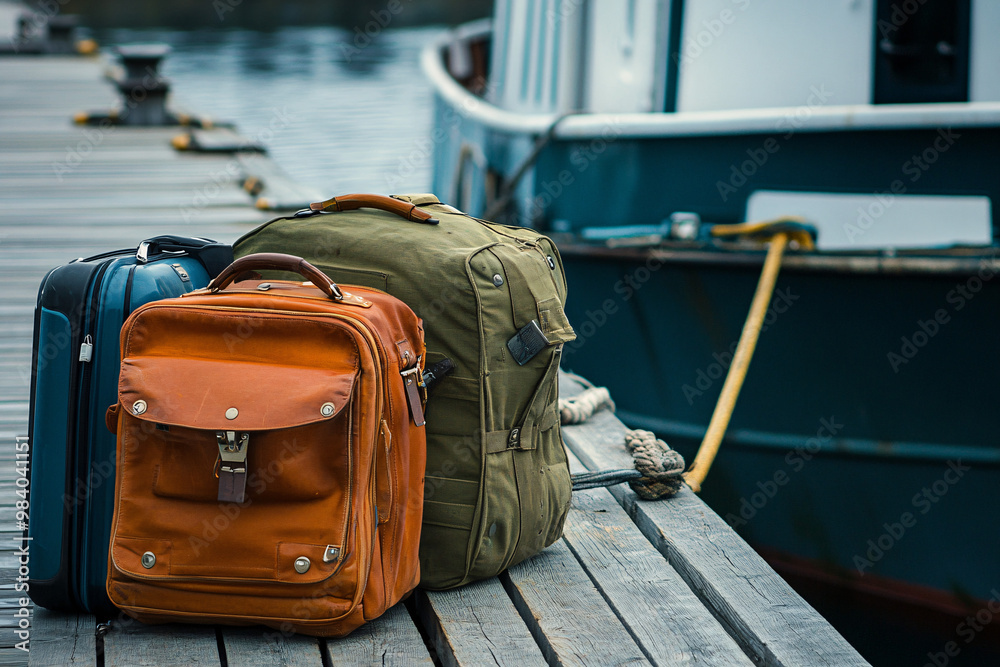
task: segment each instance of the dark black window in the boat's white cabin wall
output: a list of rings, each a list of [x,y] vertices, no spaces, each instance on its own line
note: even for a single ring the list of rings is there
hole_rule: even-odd
[[[873,101],[968,101],[969,11],[969,0],[878,0]]]

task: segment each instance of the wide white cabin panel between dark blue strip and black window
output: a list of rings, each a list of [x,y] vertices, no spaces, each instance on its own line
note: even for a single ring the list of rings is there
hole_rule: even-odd
[[[689,0],[677,110],[870,103],[872,3]]]

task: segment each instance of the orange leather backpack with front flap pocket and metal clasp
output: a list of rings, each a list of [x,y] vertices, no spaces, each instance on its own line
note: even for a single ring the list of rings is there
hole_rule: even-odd
[[[311,282],[245,280],[279,269]],[[121,334],[108,594],[146,622],[344,635],[420,579],[420,320],[244,257]]]

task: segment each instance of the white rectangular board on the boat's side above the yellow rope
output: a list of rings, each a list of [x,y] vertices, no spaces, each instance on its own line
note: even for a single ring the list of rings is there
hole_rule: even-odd
[[[989,197],[834,194],[758,190],[747,200],[748,221],[801,216],[819,230],[821,250],[989,245]]]

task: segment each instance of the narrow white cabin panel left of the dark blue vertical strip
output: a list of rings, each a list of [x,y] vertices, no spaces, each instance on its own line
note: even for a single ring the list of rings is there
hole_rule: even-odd
[[[669,0],[592,0],[587,18],[585,108],[594,113],[662,111]]]

